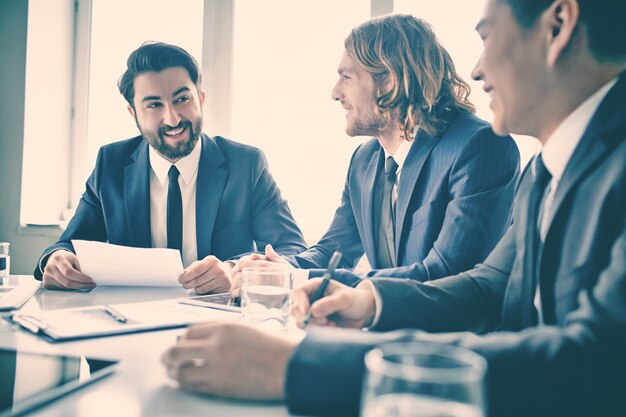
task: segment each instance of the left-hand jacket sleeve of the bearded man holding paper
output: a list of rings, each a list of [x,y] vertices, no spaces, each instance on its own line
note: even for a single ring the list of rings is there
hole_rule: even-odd
[[[46,267],[48,257],[57,250],[68,250],[74,252],[72,239],[98,240],[107,241],[106,228],[104,224],[104,215],[102,213],[102,205],[99,197],[99,178],[102,170],[103,153],[102,149],[98,152],[96,167],[87,179],[85,184],[85,192],[83,193],[76,212],[70,220],[67,228],[61,234],[59,241],[54,245],[46,248],[37,261],[35,268],[35,278],[41,280],[43,270]]]

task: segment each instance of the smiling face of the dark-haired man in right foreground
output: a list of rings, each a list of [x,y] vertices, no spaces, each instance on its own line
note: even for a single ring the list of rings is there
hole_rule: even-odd
[[[546,115],[542,103],[550,91],[541,24],[523,29],[506,2],[487,0],[476,31],[484,46],[472,78],[483,81],[491,97],[493,130],[538,137]]]

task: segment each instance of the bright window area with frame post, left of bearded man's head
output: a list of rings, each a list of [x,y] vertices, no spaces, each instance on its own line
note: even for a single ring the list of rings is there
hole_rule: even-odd
[[[203,0],[30,0],[22,224],[70,217],[100,146],[138,134],[117,80],[147,40],[202,59]],[[172,16],[179,16],[172,19]],[[44,202],[44,204],[42,204]]]

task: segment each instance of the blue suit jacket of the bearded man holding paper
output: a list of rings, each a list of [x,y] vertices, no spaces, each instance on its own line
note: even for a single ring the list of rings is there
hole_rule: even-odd
[[[306,249],[263,153],[216,136],[201,137],[196,185],[198,259],[228,259],[271,243],[282,254]],[[149,248],[150,161],[141,137],[103,146],[76,214],[60,240],[46,249],[73,251],[71,239]],[[42,268],[43,269],[43,268]],[[37,266],[35,276],[41,279]]]

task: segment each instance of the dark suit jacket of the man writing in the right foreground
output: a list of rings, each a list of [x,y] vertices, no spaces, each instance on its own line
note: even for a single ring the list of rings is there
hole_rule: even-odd
[[[594,114],[556,190],[545,242],[535,258],[545,324],[538,325],[533,314],[536,282],[524,273],[530,250],[526,232],[537,227],[537,218],[527,215],[534,181],[527,169],[513,225],[483,264],[428,285],[373,280],[383,300],[376,330],[485,335],[312,334],[290,364],[291,409],[355,415],[362,356],[369,347],[385,340],[447,337],[487,359],[492,417],[625,415],[624,103],[622,74]]]

